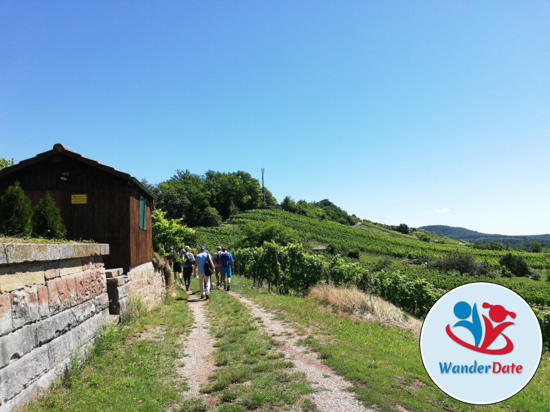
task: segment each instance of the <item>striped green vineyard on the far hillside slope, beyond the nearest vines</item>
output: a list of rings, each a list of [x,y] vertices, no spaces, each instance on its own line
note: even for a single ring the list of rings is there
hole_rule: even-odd
[[[305,216],[292,214],[281,210],[251,210],[238,214],[232,219],[235,225],[245,225],[250,220],[262,222],[276,221],[285,227],[290,227],[304,240],[314,240],[325,244],[333,244],[338,249],[356,249],[373,255],[386,255],[395,258],[417,258],[421,262],[441,258],[443,255],[457,250],[467,250],[476,260],[484,260],[496,265],[506,253],[520,255],[527,266],[537,269],[550,268],[550,258],[547,253],[527,253],[522,251],[490,251],[470,249],[456,242],[444,244],[422,242],[415,236],[388,236],[382,231],[361,230],[358,227],[340,225],[337,222],[316,220]],[[363,224],[364,225],[364,224]],[[426,232],[429,233],[429,232]]]

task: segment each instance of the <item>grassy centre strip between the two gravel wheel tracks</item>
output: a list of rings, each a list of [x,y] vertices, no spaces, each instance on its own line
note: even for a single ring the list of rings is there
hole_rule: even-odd
[[[218,348],[213,354],[218,368],[202,391],[218,398],[214,411],[315,411],[303,374],[276,350],[279,343],[248,308],[222,290],[210,296],[206,310]]]

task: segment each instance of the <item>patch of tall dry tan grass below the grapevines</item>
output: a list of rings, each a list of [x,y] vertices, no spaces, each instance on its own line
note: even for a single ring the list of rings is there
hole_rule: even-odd
[[[341,288],[329,284],[318,284],[309,290],[307,297],[364,319],[410,329],[415,334],[419,334],[422,326],[421,321],[406,314],[397,306],[381,297],[364,293],[355,286]]]

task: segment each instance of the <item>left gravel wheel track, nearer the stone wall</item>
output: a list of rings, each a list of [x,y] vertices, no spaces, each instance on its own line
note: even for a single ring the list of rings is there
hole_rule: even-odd
[[[189,390],[183,393],[186,398],[205,397],[199,389],[202,384],[208,383],[208,376],[212,374],[215,368],[212,359],[214,339],[210,337],[210,323],[204,310],[205,302],[197,299],[196,295],[192,295],[190,292],[187,294],[189,295],[189,308],[195,322],[191,333],[184,338],[184,357],[178,361],[179,363],[185,363],[185,366],[177,367],[176,371],[188,379]],[[208,399],[205,400],[208,401]]]

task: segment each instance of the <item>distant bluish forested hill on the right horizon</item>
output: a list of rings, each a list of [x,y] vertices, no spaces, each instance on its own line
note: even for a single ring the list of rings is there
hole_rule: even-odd
[[[430,225],[423,226],[419,229],[431,231],[438,235],[447,236],[448,238],[455,238],[466,240],[467,242],[479,242],[490,243],[499,242],[502,244],[508,244],[514,249],[520,249],[528,251],[531,247],[531,242],[539,242],[542,247],[550,247],[550,234],[544,235],[525,235],[525,236],[507,236],[498,234],[481,233],[478,231],[465,229],[463,227],[452,227],[445,225]]]

